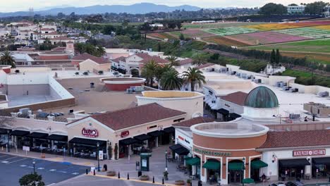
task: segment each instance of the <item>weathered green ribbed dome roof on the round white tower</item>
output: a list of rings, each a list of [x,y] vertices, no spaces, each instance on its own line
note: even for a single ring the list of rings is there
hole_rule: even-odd
[[[252,89],[251,92],[247,94],[245,106],[269,109],[279,107],[279,100],[271,89],[260,86]]]

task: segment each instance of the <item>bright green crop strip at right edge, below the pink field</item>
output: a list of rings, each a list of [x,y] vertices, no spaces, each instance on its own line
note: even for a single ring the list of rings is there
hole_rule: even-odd
[[[248,49],[258,49],[258,50],[279,49],[280,51],[330,53],[330,39],[317,39],[317,40],[308,40],[302,42],[271,44],[267,46],[252,46],[252,47],[248,47]]]

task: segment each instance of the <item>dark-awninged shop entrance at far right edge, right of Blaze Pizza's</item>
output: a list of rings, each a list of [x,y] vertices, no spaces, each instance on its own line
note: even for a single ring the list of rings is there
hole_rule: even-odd
[[[330,171],[330,157],[312,159],[312,177],[326,178]]]

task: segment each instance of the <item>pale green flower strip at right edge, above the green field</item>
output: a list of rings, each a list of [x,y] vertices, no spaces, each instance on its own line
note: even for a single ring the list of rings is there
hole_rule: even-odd
[[[287,35],[309,37],[314,39],[330,37],[330,30],[318,29],[315,27],[300,27],[287,30],[277,30],[276,32],[280,32]]]

